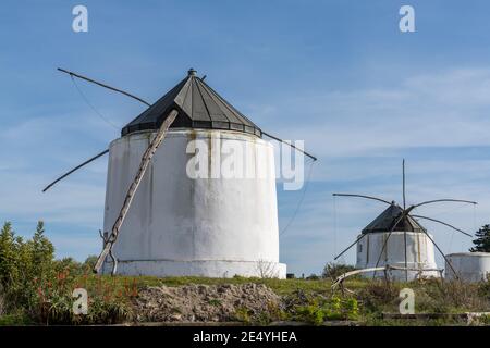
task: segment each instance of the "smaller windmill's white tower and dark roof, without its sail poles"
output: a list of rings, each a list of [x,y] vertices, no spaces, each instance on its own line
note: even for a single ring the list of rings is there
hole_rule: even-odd
[[[402,208],[392,203],[363,229],[358,236],[363,238],[357,243],[356,268],[376,268],[379,260],[379,268],[390,265],[404,269],[406,254],[406,269],[409,270],[390,270],[391,278],[405,281],[408,276],[408,281],[412,281],[418,277],[440,276],[433,243],[426,235],[425,228],[411,215],[396,224],[401,213]],[[393,232],[388,238],[392,228]],[[363,273],[367,277],[372,277],[372,272]],[[384,277],[384,272],[377,271],[376,276]]]

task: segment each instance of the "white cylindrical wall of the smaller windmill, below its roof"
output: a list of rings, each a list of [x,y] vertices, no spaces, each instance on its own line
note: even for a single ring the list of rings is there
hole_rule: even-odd
[[[375,268],[378,258],[387,240],[388,233],[367,234],[357,243],[357,262],[356,268],[368,269]],[[359,236],[358,236],[359,237]],[[407,266],[416,269],[437,269],[434,260],[433,244],[422,233],[406,233],[406,253]],[[393,232],[388,239],[387,247],[381,254],[378,266],[384,265],[405,266],[405,241],[403,232]],[[367,277],[372,277],[372,273],[364,273]],[[408,271],[408,279],[418,277],[419,272]],[[422,276],[439,276],[437,271],[426,271]],[[384,273],[376,272],[376,276],[382,277]],[[405,279],[405,271],[391,271],[391,277],[399,281]]]

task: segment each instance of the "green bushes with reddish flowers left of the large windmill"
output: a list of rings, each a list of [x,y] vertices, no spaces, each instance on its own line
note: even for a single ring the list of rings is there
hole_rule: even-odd
[[[15,235],[10,223],[0,231],[0,323],[109,324],[131,319],[130,300],[136,284],[128,279],[91,274],[94,258],[79,263],[72,258],[54,260],[42,222],[32,239]],[[75,288],[88,293],[87,315],[73,313]],[[1,313],[0,313],[1,314]]]

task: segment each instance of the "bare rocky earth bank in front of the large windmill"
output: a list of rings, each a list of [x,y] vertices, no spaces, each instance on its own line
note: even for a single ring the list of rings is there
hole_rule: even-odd
[[[225,322],[257,318],[280,306],[264,284],[149,286],[134,299],[138,322]]]

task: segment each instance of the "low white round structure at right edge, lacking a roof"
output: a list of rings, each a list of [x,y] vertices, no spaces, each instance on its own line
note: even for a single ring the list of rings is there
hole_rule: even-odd
[[[457,277],[464,282],[479,282],[490,274],[490,252],[460,252],[445,256]],[[445,265],[445,277],[456,278],[449,264]]]

